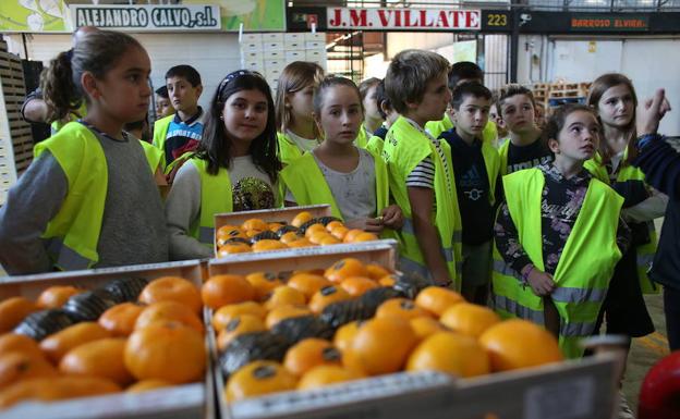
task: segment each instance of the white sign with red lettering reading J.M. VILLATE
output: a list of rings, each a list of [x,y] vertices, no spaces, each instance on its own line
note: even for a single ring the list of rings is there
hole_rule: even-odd
[[[327,29],[479,30],[479,10],[328,8]]]

